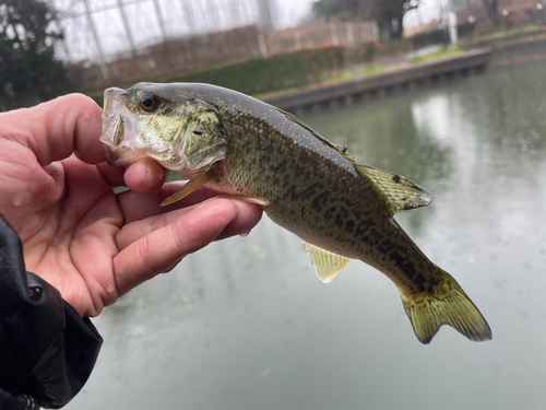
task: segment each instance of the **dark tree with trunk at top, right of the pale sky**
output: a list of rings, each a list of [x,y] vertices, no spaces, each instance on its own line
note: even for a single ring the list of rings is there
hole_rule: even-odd
[[[419,0],[366,0],[366,15],[389,30],[391,38],[402,38],[404,15],[417,9]]]

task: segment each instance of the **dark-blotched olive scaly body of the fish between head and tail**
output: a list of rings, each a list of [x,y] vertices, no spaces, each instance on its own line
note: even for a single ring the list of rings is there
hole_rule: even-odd
[[[359,258],[399,285],[423,291],[427,281],[417,272],[436,268],[392,220],[385,198],[359,176],[343,149],[295,117],[228,90],[197,84],[185,97],[212,102],[218,113],[227,140],[226,186],[244,186],[266,198],[271,219],[302,239]],[[401,183],[402,177],[393,175],[392,180]]]

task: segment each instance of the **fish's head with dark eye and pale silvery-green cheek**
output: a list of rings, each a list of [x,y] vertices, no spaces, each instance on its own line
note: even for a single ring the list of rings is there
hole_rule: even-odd
[[[150,156],[192,177],[225,157],[226,133],[216,109],[169,85],[105,91],[100,141],[110,165]]]

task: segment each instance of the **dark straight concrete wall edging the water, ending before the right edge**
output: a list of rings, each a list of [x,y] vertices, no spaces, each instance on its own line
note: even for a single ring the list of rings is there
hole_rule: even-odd
[[[476,49],[430,62],[406,63],[382,73],[334,84],[317,85],[312,89],[268,97],[264,101],[295,113],[351,103],[355,99],[369,98],[431,81],[473,73],[483,70],[490,62],[490,49]]]

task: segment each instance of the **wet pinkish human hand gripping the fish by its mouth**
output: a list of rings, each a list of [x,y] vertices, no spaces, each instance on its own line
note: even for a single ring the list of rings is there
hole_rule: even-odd
[[[161,208],[182,183],[163,185],[168,174],[153,160],[106,164],[100,115],[78,94],[0,114],[0,214],[23,242],[26,269],[82,316],[262,214],[206,189]],[[131,191],[115,195],[116,186]]]

